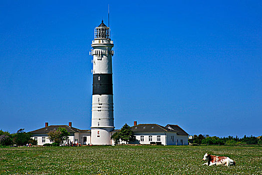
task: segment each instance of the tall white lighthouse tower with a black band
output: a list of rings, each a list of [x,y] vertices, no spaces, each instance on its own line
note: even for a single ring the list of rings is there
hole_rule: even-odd
[[[93,56],[91,144],[109,145],[114,130],[112,56],[110,29],[103,20],[95,28],[90,54]]]

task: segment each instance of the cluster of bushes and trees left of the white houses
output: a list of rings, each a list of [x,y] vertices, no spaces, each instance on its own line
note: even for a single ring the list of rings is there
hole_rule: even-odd
[[[37,144],[37,141],[31,138],[31,133],[25,132],[24,129],[17,130],[16,133],[9,133],[7,131],[0,130],[0,145],[17,145],[22,146],[26,144]]]

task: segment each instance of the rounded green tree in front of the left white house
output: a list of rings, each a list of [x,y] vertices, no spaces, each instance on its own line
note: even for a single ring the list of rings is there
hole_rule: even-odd
[[[48,139],[59,145],[68,138],[70,133],[63,127],[58,127],[56,130],[48,132]]]

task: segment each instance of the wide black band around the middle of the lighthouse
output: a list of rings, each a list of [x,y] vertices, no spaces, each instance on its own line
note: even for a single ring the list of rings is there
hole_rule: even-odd
[[[93,74],[93,95],[96,94],[113,94],[113,80],[112,74],[101,73]]]

